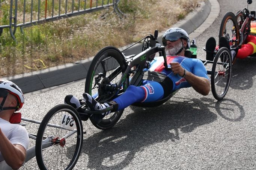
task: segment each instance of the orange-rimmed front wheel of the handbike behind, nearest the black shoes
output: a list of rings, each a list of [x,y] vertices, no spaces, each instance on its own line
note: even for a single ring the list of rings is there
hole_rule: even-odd
[[[231,36],[230,36],[231,35]],[[227,12],[220,24],[219,38],[225,37],[227,41],[232,42],[231,45],[238,46],[240,43],[239,26],[234,13]],[[232,41],[236,40],[236,41]]]

